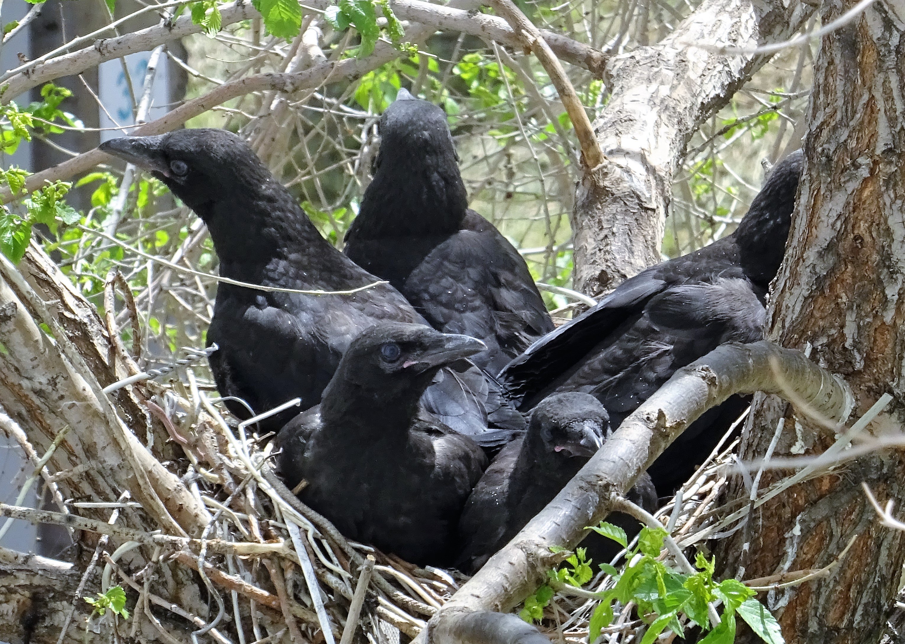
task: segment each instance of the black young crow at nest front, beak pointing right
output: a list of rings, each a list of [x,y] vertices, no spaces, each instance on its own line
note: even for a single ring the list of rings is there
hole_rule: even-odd
[[[431,327],[380,323],[349,345],[319,408],[277,437],[286,485],[343,535],[414,564],[447,565],[462,506],[487,465],[468,437],[422,413],[443,365],[480,340]]]

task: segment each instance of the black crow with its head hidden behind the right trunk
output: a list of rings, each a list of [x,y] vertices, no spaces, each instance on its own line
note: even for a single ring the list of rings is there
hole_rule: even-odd
[[[592,393],[615,427],[680,367],[724,342],[764,337],[764,300],[786,249],[802,153],[776,164],[735,232],[626,279],[595,308],[544,336],[500,378],[521,409],[548,393]],[[681,434],[648,471],[672,494],[744,401],[729,399]]]

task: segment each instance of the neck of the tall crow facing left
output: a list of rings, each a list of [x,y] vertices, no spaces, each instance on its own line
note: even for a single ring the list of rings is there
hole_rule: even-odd
[[[273,182],[253,196],[251,192],[195,208],[207,223],[221,276],[269,286],[286,282],[296,289],[329,288],[323,278],[338,261],[346,261],[342,254],[320,236],[282,185]]]

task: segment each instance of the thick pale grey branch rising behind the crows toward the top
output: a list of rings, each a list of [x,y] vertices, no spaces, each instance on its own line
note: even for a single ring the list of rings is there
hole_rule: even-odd
[[[784,40],[813,13],[800,2],[706,0],[661,43],[610,60],[611,99],[594,124],[605,161],[576,194],[577,290],[597,295],[660,261],[689,139],[769,58],[702,47]]]

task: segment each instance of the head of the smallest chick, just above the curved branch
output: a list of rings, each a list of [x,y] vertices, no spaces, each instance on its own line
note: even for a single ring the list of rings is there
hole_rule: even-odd
[[[594,455],[606,439],[610,416],[589,393],[554,393],[531,412],[529,439],[561,459]]]

